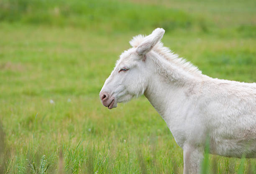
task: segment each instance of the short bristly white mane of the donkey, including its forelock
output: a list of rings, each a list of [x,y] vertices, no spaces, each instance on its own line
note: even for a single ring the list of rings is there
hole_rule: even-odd
[[[130,41],[130,44],[132,47],[138,47],[138,45],[143,42],[145,36],[144,35],[137,35],[133,37],[133,39]],[[172,50],[170,50],[168,47],[164,47],[163,43],[159,41],[152,49],[162,57],[164,57],[166,60],[168,60],[170,63],[175,64],[177,67],[182,68],[182,70],[191,73],[195,76],[201,76],[202,72],[198,70],[198,68],[193,65],[191,62],[185,60],[182,57],[179,57],[179,55],[174,54]]]

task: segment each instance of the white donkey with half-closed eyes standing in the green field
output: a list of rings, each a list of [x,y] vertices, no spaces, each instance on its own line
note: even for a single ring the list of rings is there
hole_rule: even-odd
[[[108,109],[144,94],[184,150],[184,174],[200,173],[210,153],[256,158],[256,83],[219,80],[160,42],[164,29],[130,41],[100,92]]]

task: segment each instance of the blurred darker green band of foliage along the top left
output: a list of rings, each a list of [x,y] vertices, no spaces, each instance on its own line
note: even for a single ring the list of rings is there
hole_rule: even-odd
[[[113,0],[4,0],[0,9],[3,21],[100,30],[141,30],[156,26],[173,30],[189,28],[193,23],[181,10]]]

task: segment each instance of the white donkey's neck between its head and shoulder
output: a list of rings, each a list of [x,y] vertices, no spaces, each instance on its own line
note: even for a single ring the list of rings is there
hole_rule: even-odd
[[[172,119],[172,112],[175,112],[177,104],[184,100],[186,92],[200,81],[200,77],[193,76],[166,62],[163,57],[156,56],[157,54],[153,53],[146,60],[151,68],[148,70],[151,72],[151,78],[144,95],[167,123],[168,119]]]

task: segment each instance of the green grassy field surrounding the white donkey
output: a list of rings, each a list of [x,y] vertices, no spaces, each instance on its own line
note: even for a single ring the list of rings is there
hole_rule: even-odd
[[[147,99],[108,110],[100,89],[128,41],[156,27],[204,74],[256,82],[255,9],[254,0],[1,1],[0,173],[182,173],[183,151]],[[209,172],[256,174],[256,159],[206,155]]]

